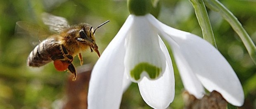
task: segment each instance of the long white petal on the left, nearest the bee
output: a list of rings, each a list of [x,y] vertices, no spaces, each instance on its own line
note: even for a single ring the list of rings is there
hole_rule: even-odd
[[[90,78],[88,109],[119,109],[123,94],[124,39],[133,17],[129,16],[95,64]]]

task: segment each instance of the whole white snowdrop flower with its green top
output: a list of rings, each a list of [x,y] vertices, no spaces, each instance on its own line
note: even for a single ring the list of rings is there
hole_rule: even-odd
[[[129,0],[130,15],[95,64],[88,109],[119,109],[129,81],[138,83],[145,102],[165,109],[174,98],[171,47],[185,89],[198,99],[216,90],[236,106],[244,93],[234,70],[215,47],[199,36],[171,28],[149,14],[151,0]]]

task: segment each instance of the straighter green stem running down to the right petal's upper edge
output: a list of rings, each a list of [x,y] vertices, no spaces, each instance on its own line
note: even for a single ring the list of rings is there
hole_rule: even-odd
[[[217,48],[215,38],[213,35],[213,31],[211,28],[211,23],[206,11],[206,7],[204,5],[203,0],[190,0],[194,7],[194,11],[197,15],[197,20],[199,25],[201,26],[202,33],[204,40],[207,40],[209,43],[211,43],[213,46]]]

